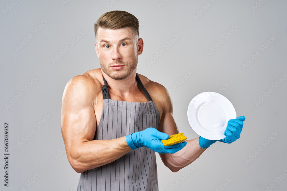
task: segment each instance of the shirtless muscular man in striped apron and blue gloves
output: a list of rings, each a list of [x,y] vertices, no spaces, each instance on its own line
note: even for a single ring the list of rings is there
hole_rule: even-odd
[[[158,190],[155,151],[172,171],[191,164],[215,141],[197,137],[164,147],[178,133],[166,88],[137,74],[144,42],[125,11],[104,13],[94,25],[99,69],[66,85],[61,131],[68,160],[81,173],[78,190]],[[226,138],[240,137],[245,117],[228,121]]]

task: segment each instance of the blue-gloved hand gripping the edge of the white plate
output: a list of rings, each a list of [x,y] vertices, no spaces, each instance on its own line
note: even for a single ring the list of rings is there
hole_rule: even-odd
[[[236,119],[230,119],[227,122],[226,130],[223,133],[226,137],[218,141],[223,142],[223,143],[233,143],[234,141],[239,139],[240,133],[243,128],[243,121],[245,121],[244,116],[236,117]],[[216,141],[208,140],[203,137],[199,137],[198,139],[199,146],[204,149],[210,147],[210,145],[212,145],[215,142]]]

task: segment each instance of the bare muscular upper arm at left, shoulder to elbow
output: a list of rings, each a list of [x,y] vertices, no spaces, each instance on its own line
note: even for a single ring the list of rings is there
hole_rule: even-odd
[[[81,79],[68,82],[63,94],[61,131],[67,155],[81,142],[93,140],[96,132],[92,95],[85,82]],[[76,91],[75,86],[79,87]]]

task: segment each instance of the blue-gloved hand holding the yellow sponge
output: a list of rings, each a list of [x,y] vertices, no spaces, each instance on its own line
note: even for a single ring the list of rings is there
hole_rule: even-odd
[[[126,136],[126,141],[131,149],[138,149],[140,147],[148,147],[158,153],[175,153],[181,150],[187,143],[177,143],[170,146],[163,146],[161,140],[168,139],[166,133],[162,133],[155,128],[147,128],[144,131],[131,133]]]

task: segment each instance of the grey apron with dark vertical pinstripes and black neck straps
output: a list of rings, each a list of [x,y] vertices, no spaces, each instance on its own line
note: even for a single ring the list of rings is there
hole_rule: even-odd
[[[148,127],[158,129],[158,109],[137,74],[148,102],[111,100],[104,76],[103,79],[103,110],[94,140],[116,139]],[[82,172],[77,190],[158,190],[155,151],[141,147],[109,164]]]

